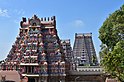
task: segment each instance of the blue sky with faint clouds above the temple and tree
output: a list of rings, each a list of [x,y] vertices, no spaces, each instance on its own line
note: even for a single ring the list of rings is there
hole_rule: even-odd
[[[93,33],[98,55],[98,30],[105,19],[119,9],[124,0],[0,0],[0,60],[5,59],[19,34],[22,17],[56,16],[61,39],[71,39],[75,33]]]

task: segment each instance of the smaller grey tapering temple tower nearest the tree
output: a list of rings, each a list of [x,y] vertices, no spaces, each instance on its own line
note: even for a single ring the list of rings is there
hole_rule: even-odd
[[[92,33],[76,33],[73,47],[76,66],[98,65]]]

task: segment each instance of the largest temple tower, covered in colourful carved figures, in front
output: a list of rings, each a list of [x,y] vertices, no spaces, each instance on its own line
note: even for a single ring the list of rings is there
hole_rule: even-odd
[[[17,70],[29,82],[64,82],[65,62],[56,30],[55,16],[28,21],[22,18],[19,36],[12,45],[2,70]]]

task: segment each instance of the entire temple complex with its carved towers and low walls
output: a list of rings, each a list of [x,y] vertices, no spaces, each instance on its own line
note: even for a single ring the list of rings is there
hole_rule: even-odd
[[[105,82],[92,33],[59,38],[56,18],[22,18],[19,34],[5,60],[0,61],[0,82]],[[109,79],[109,78],[108,78]]]

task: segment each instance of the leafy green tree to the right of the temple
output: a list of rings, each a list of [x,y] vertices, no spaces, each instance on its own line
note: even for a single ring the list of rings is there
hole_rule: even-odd
[[[99,39],[101,65],[111,76],[124,81],[124,5],[105,20]]]

